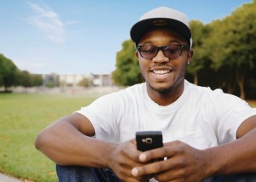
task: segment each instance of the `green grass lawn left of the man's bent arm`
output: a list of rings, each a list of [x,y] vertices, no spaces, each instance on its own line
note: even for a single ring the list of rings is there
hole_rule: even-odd
[[[0,94],[0,172],[32,181],[57,181],[55,163],[33,145],[42,128],[96,97]]]

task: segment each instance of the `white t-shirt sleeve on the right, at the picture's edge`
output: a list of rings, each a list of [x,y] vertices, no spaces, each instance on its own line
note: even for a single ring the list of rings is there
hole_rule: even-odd
[[[248,117],[256,115],[256,109],[245,100],[217,89],[210,101],[209,120],[212,120],[218,143],[224,144],[236,139],[237,129]]]

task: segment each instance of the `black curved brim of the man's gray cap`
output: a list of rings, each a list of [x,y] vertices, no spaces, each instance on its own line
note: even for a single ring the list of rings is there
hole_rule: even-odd
[[[138,43],[141,37],[150,29],[155,27],[168,27],[173,31],[180,33],[186,40],[190,40],[191,31],[189,27],[182,22],[173,19],[154,18],[148,20],[141,20],[131,27],[130,35],[134,43]]]

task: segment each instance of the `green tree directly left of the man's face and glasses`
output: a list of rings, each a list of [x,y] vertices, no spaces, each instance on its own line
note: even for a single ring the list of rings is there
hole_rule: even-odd
[[[112,73],[113,81],[122,86],[143,82],[143,76],[135,55],[135,46],[131,40],[122,43],[122,49],[116,56],[116,70]]]

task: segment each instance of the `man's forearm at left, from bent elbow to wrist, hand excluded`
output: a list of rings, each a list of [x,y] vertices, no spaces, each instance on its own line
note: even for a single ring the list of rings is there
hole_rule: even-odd
[[[113,144],[80,133],[68,122],[56,122],[45,128],[35,143],[54,162],[60,165],[106,167],[108,149]]]

